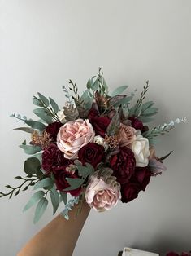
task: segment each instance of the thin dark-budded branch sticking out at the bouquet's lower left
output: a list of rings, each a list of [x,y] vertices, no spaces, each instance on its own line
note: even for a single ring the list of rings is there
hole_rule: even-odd
[[[21,188],[23,188],[22,191],[25,191],[28,189],[29,186],[34,186],[38,181],[37,176],[34,176],[34,175],[28,175],[26,178],[23,178],[21,176],[16,176],[15,179],[21,179],[23,180],[23,183],[21,183],[20,186],[17,186],[15,188],[12,187],[11,185],[7,185],[6,188],[11,189],[11,191],[7,193],[0,192],[0,197],[9,196],[9,198],[11,198],[12,196],[17,196],[19,195]],[[24,184],[25,184],[25,187],[24,187]]]

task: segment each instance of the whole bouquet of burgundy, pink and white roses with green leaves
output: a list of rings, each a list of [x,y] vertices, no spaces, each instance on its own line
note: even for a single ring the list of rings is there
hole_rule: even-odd
[[[63,86],[67,99],[63,108],[38,93],[33,97],[37,121],[12,114],[27,125],[14,130],[30,134],[28,143],[24,140],[20,145],[29,156],[24,161],[24,177],[15,177],[20,185],[7,185],[9,191],[0,192],[0,197],[11,198],[33,188],[33,196],[24,206],[25,211],[37,205],[33,223],[41,218],[49,200],[53,214],[63,202],[62,215],[68,219],[74,204],[78,204],[76,215],[80,214],[83,201],[102,212],[119,201],[128,203],[137,198],[151,176],[166,170],[163,160],[171,154],[157,157],[156,137],[185,118],[150,129],[145,123],[154,120],[158,108],[153,101],[145,101],[149,82],[135,104],[136,90],[126,95],[127,88],[120,86],[109,93],[99,68],[82,95],[71,80],[68,89]]]

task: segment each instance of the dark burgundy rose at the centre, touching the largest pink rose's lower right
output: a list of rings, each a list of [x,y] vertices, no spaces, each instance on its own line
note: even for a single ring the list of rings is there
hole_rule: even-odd
[[[88,143],[78,152],[78,158],[85,165],[85,162],[91,164],[94,168],[102,161],[104,157],[104,147],[97,143]]]

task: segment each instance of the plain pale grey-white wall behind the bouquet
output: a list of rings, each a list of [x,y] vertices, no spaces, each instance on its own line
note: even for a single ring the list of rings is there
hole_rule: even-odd
[[[37,91],[64,103],[69,78],[83,90],[102,66],[111,86],[130,85],[160,113],[155,125],[187,116],[188,124],[161,137],[158,155],[174,150],[167,172],[146,192],[104,214],[91,212],[73,255],[115,256],[124,246],[161,253],[191,247],[190,120],[191,1],[189,0],[1,0],[0,188],[22,174],[22,132],[11,113],[31,117]],[[51,208],[32,224],[22,214],[30,192],[0,202],[0,255],[12,256],[52,218]],[[59,239],[62,239],[60,237]]]

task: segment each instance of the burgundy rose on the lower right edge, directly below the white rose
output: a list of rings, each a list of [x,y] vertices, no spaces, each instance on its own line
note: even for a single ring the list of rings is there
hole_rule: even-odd
[[[141,190],[145,190],[146,186],[150,183],[150,168],[148,166],[136,167],[130,180],[139,183]]]

